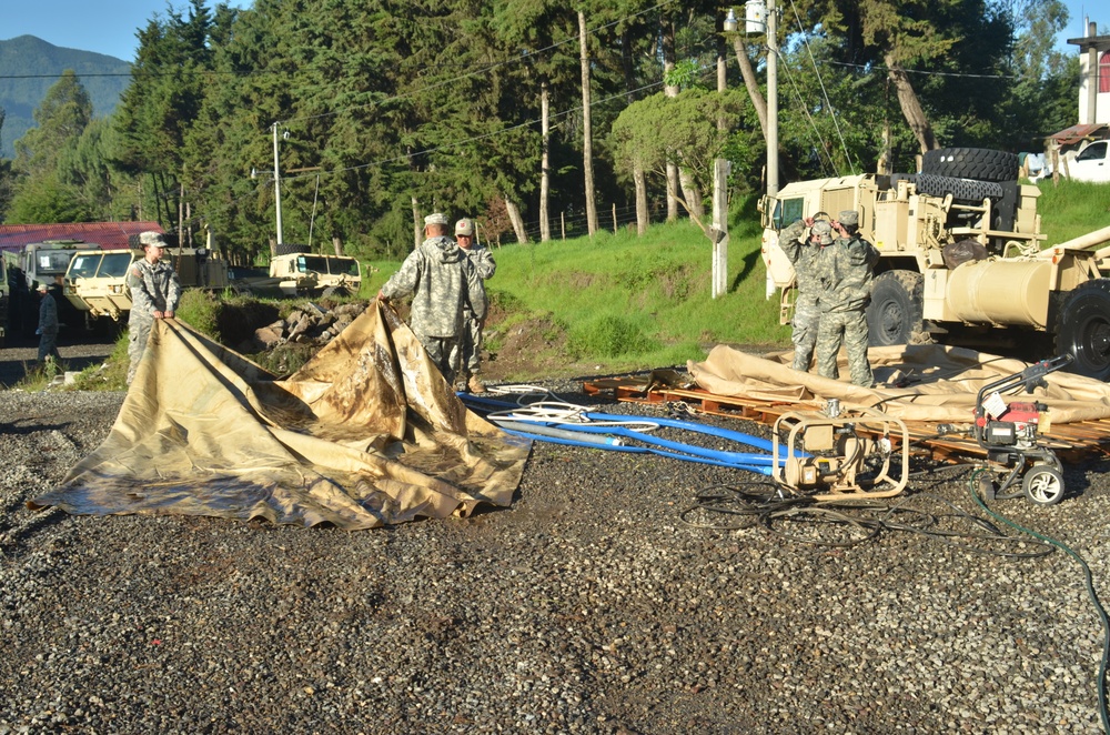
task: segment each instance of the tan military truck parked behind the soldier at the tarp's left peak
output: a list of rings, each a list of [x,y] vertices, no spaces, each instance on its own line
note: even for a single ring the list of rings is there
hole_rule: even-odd
[[[88,250],[73,254],[65,272],[65,298],[90,319],[120,321],[131,311],[128,271],[141,250]],[[203,248],[165,250],[183,289],[220,291],[229,285],[226,261]]]

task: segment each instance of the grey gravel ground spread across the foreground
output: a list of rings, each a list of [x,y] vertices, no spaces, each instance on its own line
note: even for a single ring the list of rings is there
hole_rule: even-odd
[[[1063,553],[694,527],[696,494],[750,476],[553,444],[511,509],[468,520],[27,511],[122,400],[0,392],[0,733],[1099,731],[1102,634]],[[1070,466],[1054,507],[992,505],[1103,592],[1107,469]],[[967,484],[922,473],[904,499],[978,511]]]

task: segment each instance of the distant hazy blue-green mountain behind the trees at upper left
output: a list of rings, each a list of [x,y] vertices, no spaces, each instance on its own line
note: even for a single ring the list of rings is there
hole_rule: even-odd
[[[34,128],[34,108],[62,72],[72,69],[92,100],[93,115],[115,109],[131,83],[131,64],[92,51],[63,49],[33,36],[0,41],[0,158],[16,154],[14,141]]]

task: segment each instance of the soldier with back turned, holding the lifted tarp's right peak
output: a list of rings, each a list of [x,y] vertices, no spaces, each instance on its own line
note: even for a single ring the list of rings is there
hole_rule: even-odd
[[[463,305],[470,303],[478,319],[485,319],[485,299],[466,254],[447,236],[445,214],[424,218],[424,242],[408,254],[379,299],[413,294],[411,326],[447,383],[454,385],[463,333]]]

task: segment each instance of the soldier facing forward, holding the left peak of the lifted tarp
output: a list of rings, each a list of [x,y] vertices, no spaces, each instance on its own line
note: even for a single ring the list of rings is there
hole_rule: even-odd
[[[131,289],[131,314],[128,316],[128,384],[134,380],[139,361],[147,350],[147,341],[155,319],[173,319],[181,300],[181,283],[173,265],[162,262],[165,239],[159,232],[139,235],[143,249],[142,260],[131,263],[128,288]]]

